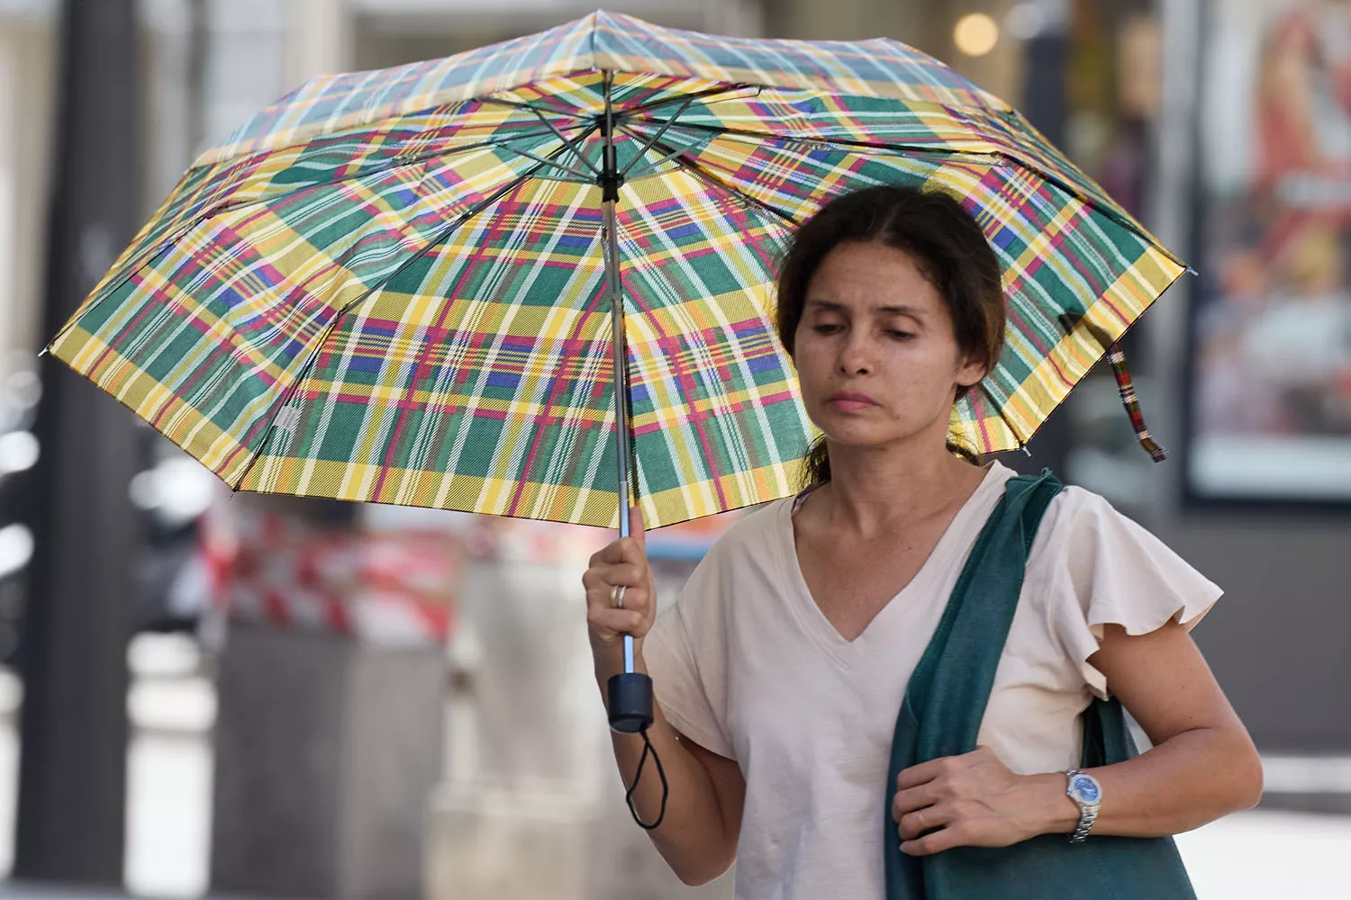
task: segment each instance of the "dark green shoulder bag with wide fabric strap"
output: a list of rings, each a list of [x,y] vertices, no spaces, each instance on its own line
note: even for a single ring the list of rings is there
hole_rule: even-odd
[[[1012,847],[954,847],[931,857],[900,850],[892,818],[905,768],[970,753],[985,716],[1004,641],[1023,588],[1036,528],[1062,484],[1050,472],[1011,479],[962,569],[911,676],[888,773],[886,900],[1194,900],[1171,838],[1089,837],[1071,845],[1044,834]],[[1117,700],[1084,714],[1082,768],[1136,754]]]

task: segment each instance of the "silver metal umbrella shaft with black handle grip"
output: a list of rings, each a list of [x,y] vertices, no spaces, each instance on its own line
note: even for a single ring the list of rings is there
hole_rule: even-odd
[[[611,73],[605,73],[605,117],[601,123],[604,155],[600,178],[601,206],[605,215],[605,283],[609,293],[611,348],[615,363],[615,456],[619,460],[619,536],[628,537],[628,352],[624,341],[624,285],[619,277],[619,235],[615,206],[623,175],[615,158],[615,120],[611,109]],[[619,604],[624,604],[620,588]],[[634,671],[634,636],[624,636],[624,672],[609,679],[609,726],[616,731],[643,731],[653,723],[653,680]]]

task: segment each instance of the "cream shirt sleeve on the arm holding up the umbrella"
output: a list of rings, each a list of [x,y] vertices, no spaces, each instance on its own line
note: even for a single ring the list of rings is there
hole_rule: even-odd
[[[727,730],[727,656],[719,626],[717,546],[700,561],[677,600],[643,640],[653,694],[666,721],[707,750],[735,758]]]

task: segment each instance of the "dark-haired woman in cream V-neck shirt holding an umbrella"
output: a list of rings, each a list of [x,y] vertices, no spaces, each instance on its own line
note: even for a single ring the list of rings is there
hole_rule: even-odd
[[[952,198],[871,188],[796,236],[780,337],[824,433],[808,487],[738,521],[654,625],[640,515],[584,576],[603,688],[624,633],[654,680],[670,787],[651,835],[686,884],[736,861],[736,896],[884,896],[877,816],[897,710],[963,560],[1013,472],[948,443],[994,364],[994,252]],[[627,586],[623,609],[613,606]],[[1260,765],[1188,630],[1220,591],[1102,498],[1066,488],[1031,548],[974,753],[901,772],[908,854],[1071,834],[1079,714],[1108,690],[1155,745],[1089,770],[1092,833],[1169,835],[1256,803]],[[638,735],[613,737],[624,783]],[[644,773],[638,812],[655,818]]]

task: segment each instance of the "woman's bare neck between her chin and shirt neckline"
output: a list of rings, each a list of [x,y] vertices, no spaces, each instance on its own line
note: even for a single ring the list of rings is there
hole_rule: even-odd
[[[984,478],[946,447],[840,447],[831,448],[830,483],[813,494],[824,494],[819,513],[832,530],[869,540],[961,506]]]

